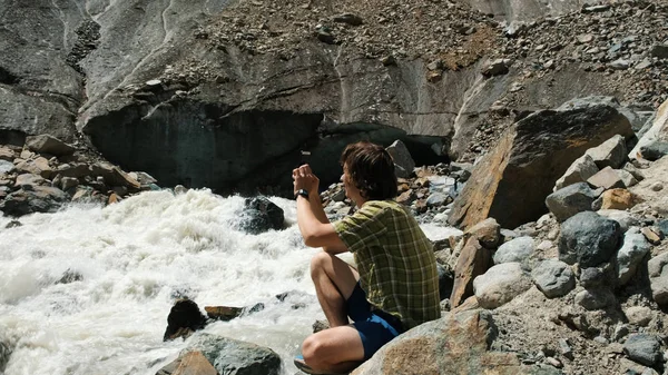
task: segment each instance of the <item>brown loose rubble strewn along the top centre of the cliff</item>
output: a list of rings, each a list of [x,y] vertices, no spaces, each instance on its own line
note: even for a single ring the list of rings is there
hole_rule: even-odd
[[[502,38],[499,23],[455,1],[249,1],[226,9],[220,20],[196,37],[234,43],[250,53],[286,59],[304,43],[350,45],[367,58],[443,57],[452,69],[475,61],[470,39]],[[429,36],[425,38],[425,36]],[[489,41],[491,47],[492,41]],[[464,46],[464,47],[463,47]],[[478,47],[478,46],[477,46]],[[460,57],[460,59],[455,59]],[[442,68],[442,67],[439,67]]]

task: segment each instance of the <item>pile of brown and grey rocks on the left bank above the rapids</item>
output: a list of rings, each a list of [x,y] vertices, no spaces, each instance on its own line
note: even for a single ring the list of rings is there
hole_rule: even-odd
[[[0,146],[0,211],[8,216],[53,213],[69,203],[112,204],[159,189],[155,182],[47,135]]]

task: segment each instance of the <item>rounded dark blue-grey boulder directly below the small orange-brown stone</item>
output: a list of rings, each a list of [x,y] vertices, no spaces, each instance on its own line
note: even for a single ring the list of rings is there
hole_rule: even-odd
[[[559,259],[569,265],[593,267],[608,261],[619,244],[621,229],[615,220],[584,211],[563,223],[559,236]]]

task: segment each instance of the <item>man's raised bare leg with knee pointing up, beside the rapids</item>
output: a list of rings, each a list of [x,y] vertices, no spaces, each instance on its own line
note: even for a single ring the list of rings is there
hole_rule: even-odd
[[[311,260],[311,278],[330,327],[347,325],[345,302],[360,278],[357,272],[335,255],[322,251]]]

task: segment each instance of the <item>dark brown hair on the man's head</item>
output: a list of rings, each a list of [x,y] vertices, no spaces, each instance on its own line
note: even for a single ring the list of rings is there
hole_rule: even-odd
[[[348,145],[341,154],[341,166],[347,167],[352,182],[365,199],[396,197],[394,161],[382,147],[367,141]]]

